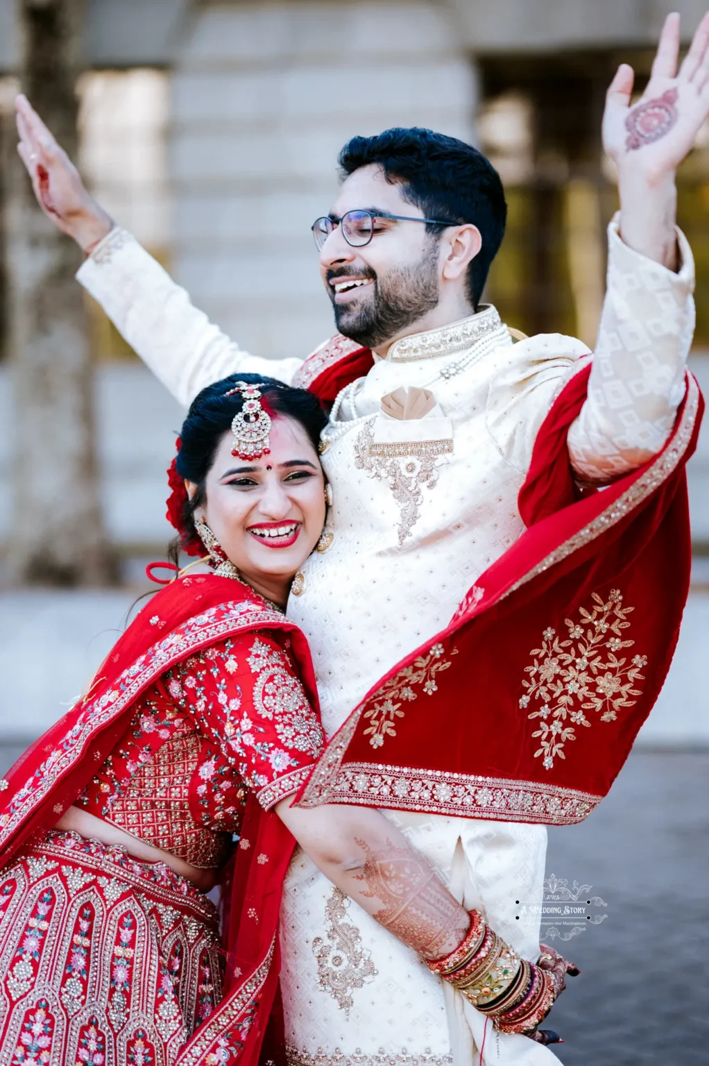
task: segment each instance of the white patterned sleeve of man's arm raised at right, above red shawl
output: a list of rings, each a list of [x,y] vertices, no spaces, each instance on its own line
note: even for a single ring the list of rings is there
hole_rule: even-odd
[[[603,483],[661,451],[684,395],[694,333],[694,262],[677,230],[677,273],[633,252],[609,226],[608,287],[589,397],[568,433],[577,477]]]

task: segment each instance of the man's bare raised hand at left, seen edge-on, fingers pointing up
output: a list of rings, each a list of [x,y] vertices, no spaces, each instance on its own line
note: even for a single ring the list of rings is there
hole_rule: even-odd
[[[113,220],[87,191],[76,166],[26,96],[15,100],[19,143],[37,204],[84,252],[106,237]]]

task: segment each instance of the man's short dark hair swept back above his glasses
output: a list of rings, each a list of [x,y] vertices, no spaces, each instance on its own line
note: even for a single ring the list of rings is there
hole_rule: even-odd
[[[376,136],[353,136],[338,162],[342,178],[374,163],[404,199],[428,219],[471,222],[482,236],[482,248],[468,268],[468,298],[473,308],[504,237],[507,205],[500,175],[482,152],[445,133],[414,126],[394,127]],[[440,233],[434,226],[432,233]]]

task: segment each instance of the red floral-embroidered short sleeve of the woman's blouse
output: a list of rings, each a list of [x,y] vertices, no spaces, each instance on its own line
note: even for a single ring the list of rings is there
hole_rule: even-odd
[[[325,738],[290,657],[267,632],[210,645],[191,656],[172,693],[265,807],[295,792]],[[172,682],[171,682],[172,683]],[[210,773],[206,765],[204,776]]]

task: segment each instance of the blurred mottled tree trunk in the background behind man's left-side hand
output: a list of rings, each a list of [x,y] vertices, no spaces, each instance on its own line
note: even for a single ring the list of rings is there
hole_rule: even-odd
[[[76,158],[79,0],[21,0],[21,85]],[[13,152],[14,155],[14,152]],[[14,583],[93,584],[111,576],[98,500],[93,381],[81,254],[37,207],[12,167],[5,269],[14,406],[14,501],[7,570]]]

